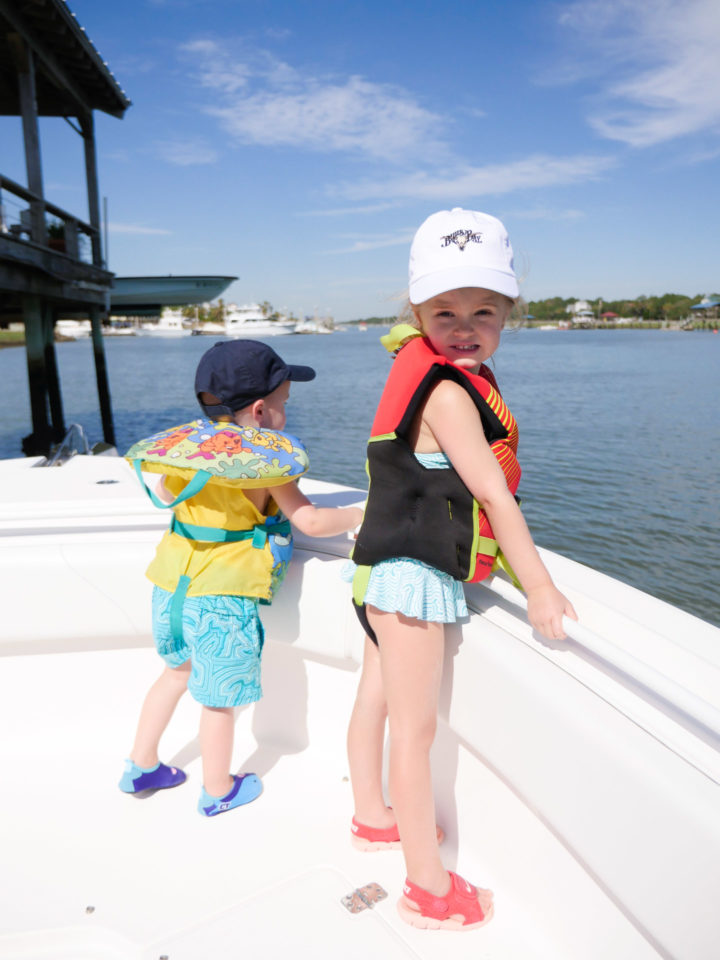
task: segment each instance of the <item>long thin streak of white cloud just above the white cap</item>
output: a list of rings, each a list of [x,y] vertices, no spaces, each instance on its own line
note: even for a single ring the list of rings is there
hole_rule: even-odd
[[[347,183],[332,192],[354,200],[391,198],[466,203],[477,197],[512,193],[515,190],[596,180],[614,164],[611,157],[536,155],[514,163],[466,166],[452,174],[421,171],[382,181]]]

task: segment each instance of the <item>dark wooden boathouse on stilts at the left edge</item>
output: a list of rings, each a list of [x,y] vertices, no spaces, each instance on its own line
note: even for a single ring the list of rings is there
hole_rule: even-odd
[[[0,115],[22,119],[26,183],[0,167],[0,321],[25,326],[32,432],[28,455],[65,434],[55,358],[60,313],[89,317],[107,443],[114,429],[101,318],[113,274],[103,259],[93,113],[121,118],[130,101],[63,0],[0,0]],[[45,195],[41,117],[62,117],[82,139],[87,212]]]

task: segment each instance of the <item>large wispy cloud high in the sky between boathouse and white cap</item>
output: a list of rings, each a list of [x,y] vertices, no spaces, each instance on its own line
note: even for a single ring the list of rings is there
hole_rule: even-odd
[[[267,51],[230,56],[219,43],[185,44],[200,53],[203,87],[215,92],[205,112],[242,143],[343,151],[382,160],[404,160],[422,144],[436,151],[441,117],[399,87],[362,76],[303,76]],[[218,102],[219,100],[219,102]]]

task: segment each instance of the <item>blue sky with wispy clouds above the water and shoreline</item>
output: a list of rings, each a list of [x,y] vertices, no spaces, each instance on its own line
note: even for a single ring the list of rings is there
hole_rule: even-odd
[[[717,0],[69,6],[133,101],[96,115],[119,275],[385,316],[414,230],[465,206],[504,220],[527,299],[720,289]],[[41,134],[48,198],[84,211],[79,138]]]

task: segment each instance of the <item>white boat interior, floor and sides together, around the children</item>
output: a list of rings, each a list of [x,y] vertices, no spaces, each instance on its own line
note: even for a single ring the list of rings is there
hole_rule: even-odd
[[[338,576],[342,538],[299,541],[264,617],[265,697],[238,712],[235,745],[235,769],[258,773],[263,795],[197,814],[189,696],[163,743],[188,781],[122,794],[160,669],[143,570],[166,518],[122,461],[27,466],[3,464],[0,493],[0,958],[717,956],[717,740],[659,694],[638,697],[597,654],[538,642],[482,587],[468,593],[471,623],[449,631],[433,766],[446,865],[491,886],[496,915],[467,934],[400,920],[401,854],[350,844],[344,741],[361,636]],[[656,652],[654,669],[720,701],[720,631],[550,561],[594,630],[642,662]],[[351,915],[341,898],[369,882],[388,898]]]

